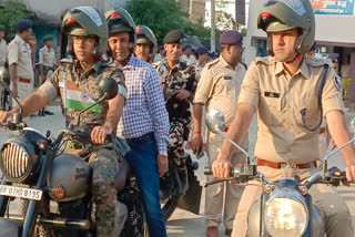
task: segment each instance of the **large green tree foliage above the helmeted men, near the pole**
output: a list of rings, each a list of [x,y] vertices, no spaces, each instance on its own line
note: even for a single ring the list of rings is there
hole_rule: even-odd
[[[163,39],[170,30],[175,29],[199,38],[211,35],[211,29],[203,25],[202,19],[197,23],[189,21],[189,13],[181,9],[176,0],[131,0],[128,11],[136,24],[151,28],[158,39]]]

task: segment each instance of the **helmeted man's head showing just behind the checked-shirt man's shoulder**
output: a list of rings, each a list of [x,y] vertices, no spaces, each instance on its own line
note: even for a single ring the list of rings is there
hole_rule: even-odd
[[[158,42],[153,31],[142,24],[135,29],[136,44],[135,55],[140,60],[152,63],[156,53]]]

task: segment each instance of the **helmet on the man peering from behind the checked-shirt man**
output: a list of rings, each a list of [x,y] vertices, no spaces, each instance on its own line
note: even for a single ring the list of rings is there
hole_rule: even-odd
[[[136,44],[150,44],[150,60],[152,61],[158,51],[158,41],[153,31],[145,25],[136,25]]]

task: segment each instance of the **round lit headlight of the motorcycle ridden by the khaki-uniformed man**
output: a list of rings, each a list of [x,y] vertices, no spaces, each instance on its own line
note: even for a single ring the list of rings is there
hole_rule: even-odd
[[[273,237],[302,236],[308,225],[304,198],[293,190],[275,190],[265,204],[264,223]]]

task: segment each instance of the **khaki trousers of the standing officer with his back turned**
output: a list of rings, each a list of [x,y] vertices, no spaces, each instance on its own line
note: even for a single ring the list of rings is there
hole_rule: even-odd
[[[224,137],[220,134],[206,132],[209,166],[217,158]],[[245,163],[245,155],[236,151],[232,156],[231,163],[233,166],[239,163]],[[207,175],[207,182],[214,179],[212,175]],[[233,219],[243,190],[244,186],[236,183],[230,184],[224,182],[207,186],[205,188],[205,225],[207,227],[220,226],[223,218],[225,229],[232,229]]]

